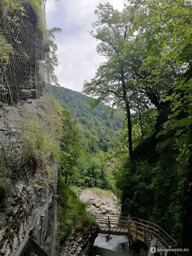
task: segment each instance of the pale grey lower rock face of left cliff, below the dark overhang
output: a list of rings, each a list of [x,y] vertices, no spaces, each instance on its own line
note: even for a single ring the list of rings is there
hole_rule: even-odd
[[[45,101],[31,99],[17,107],[0,107],[1,256],[13,255],[27,235],[54,255],[58,160],[51,153],[42,154],[49,150],[44,150],[45,141],[41,141],[43,137],[36,124],[37,119],[47,127],[44,135],[50,129]],[[51,106],[53,115],[55,109]]]

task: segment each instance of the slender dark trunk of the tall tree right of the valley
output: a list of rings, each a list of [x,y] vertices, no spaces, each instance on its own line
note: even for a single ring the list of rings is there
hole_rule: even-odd
[[[126,109],[126,115],[127,115],[129,157],[130,157],[131,162],[132,162],[133,161],[133,154],[132,154],[131,111],[130,111],[130,107],[129,107],[129,100],[127,99],[127,88],[126,88],[126,84],[125,84],[125,77],[124,77],[124,71],[123,70],[122,70],[122,88],[123,88],[125,109]]]

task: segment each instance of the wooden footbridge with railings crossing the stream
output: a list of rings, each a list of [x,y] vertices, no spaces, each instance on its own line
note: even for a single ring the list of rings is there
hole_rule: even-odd
[[[155,239],[159,249],[177,244],[161,227],[139,218],[95,215],[95,220],[99,224],[101,234],[128,236],[129,244],[131,237],[143,241],[148,246],[152,239]]]

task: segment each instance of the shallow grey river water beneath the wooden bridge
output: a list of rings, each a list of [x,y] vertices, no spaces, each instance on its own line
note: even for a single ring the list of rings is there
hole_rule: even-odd
[[[104,235],[99,234],[93,244],[95,255],[100,256],[140,256],[140,249],[129,249],[126,236],[111,236],[112,239],[106,241]]]

